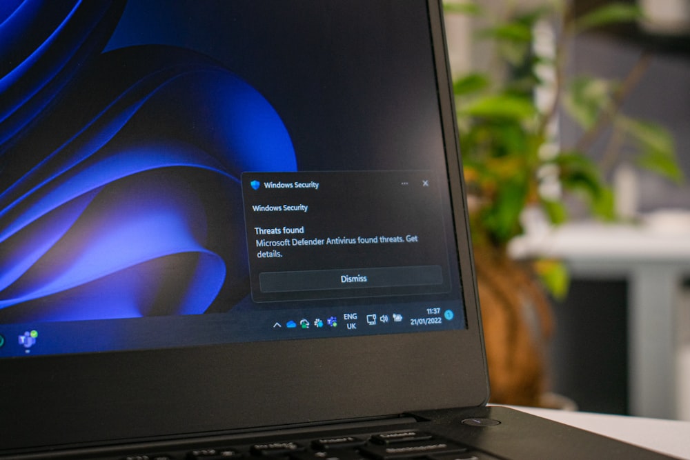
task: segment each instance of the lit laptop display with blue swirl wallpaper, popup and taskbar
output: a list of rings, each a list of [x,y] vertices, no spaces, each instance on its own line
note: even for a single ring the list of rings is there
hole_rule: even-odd
[[[0,10],[0,357],[466,328],[426,1],[348,3]]]

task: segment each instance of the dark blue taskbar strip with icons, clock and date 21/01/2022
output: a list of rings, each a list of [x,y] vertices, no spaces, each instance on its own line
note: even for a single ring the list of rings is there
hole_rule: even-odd
[[[459,301],[0,324],[0,359],[464,329]]]

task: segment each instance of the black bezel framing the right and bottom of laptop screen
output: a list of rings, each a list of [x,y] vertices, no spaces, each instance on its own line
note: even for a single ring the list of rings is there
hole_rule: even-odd
[[[486,402],[440,1],[428,0],[428,10],[468,328],[6,359],[0,363],[0,454]]]

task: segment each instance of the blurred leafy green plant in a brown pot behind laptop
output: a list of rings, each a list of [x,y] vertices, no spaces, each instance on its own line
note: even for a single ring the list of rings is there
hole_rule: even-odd
[[[449,3],[446,10],[487,14],[478,3]],[[507,245],[524,232],[525,217],[563,223],[574,196],[594,216],[616,219],[611,168],[622,161],[624,143],[635,146],[624,161],[682,180],[669,132],[621,110],[649,65],[649,52],[642,52],[623,81],[566,72],[575,34],[638,19],[639,10],[627,3],[609,3],[577,18],[562,2],[506,12],[479,35],[493,48],[493,66],[454,81],[494,402],[545,404],[543,350],[552,319],[544,288],[563,297],[569,283],[560,261],[521,263],[508,256]],[[547,46],[538,43],[540,28],[553,35]],[[563,116],[582,128],[573,146],[558,141]],[[595,161],[589,151],[602,138],[606,153]]]

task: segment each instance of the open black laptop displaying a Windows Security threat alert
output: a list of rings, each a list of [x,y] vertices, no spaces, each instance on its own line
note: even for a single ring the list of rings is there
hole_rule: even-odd
[[[435,0],[4,1],[1,459],[657,459],[486,406]]]

